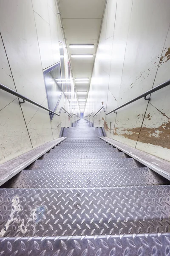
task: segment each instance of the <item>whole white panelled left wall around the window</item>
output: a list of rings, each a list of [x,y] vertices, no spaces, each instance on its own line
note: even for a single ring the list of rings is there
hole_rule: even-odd
[[[48,108],[43,70],[60,61],[59,41],[55,0],[0,0],[0,83]],[[74,96],[73,83],[71,90]],[[0,163],[58,138],[75,121],[62,111],[51,122],[47,111],[18,101],[0,90]],[[64,95],[57,113],[61,106],[72,112]]]

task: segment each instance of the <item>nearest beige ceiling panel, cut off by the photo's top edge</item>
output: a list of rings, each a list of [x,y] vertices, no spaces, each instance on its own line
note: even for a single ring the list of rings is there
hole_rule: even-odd
[[[59,0],[62,18],[102,19],[105,0]]]

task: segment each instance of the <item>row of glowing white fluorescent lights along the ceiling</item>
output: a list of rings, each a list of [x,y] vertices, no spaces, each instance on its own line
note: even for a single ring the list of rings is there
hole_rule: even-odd
[[[86,49],[86,48],[94,48],[94,44],[70,44],[70,48],[81,48],[81,49]],[[72,58],[93,58],[93,54],[71,54]],[[76,84],[88,84],[89,83],[89,78],[75,78],[75,83]],[[87,92],[77,92],[78,95],[85,95]],[[86,99],[79,99],[79,101],[86,101]],[[84,103],[79,103],[79,106],[84,106],[85,108],[85,102]],[[75,106],[78,106],[75,105]],[[80,110],[84,110],[83,107],[80,107]],[[78,110],[78,109],[77,109]]]

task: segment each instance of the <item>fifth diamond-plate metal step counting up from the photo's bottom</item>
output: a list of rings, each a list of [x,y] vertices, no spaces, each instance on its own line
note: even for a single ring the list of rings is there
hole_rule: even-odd
[[[50,158],[55,158],[55,159],[87,159],[87,158],[91,158],[91,159],[105,159],[105,158],[126,158],[126,155],[124,153],[117,153],[117,152],[101,152],[101,153],[81,153],[81,152],[67,152],[65,154],[61,154],[61,153],[51,153],[50,154],[45,154],[43,156],[43,159],[50,159]]]

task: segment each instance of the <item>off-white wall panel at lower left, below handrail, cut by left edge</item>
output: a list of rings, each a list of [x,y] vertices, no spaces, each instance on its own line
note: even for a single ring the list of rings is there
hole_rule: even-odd
[[[0,164],[32,149],[18,99],[0,111]]]

